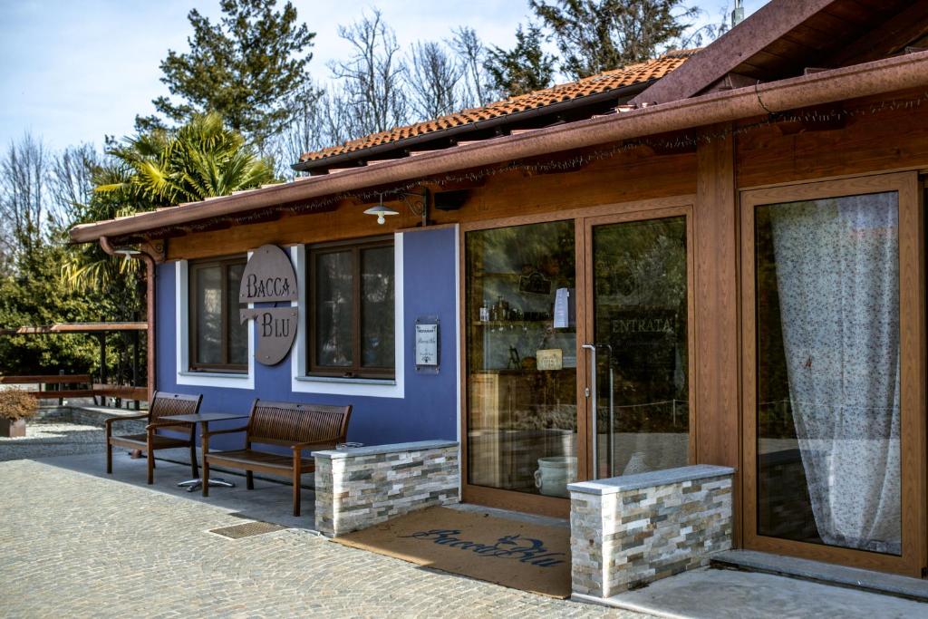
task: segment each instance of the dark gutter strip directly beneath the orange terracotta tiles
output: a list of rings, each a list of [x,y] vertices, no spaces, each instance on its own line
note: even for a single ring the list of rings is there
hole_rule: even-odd
[[[351,161],[364,159],[369,160],[371,157],[377,157],[378,155],[385,152],[394,152],[404,148],[415,147],[419,144],[427,144],[439,139],[456,137],[461,134],[470,134],[475,131],[485,131],[500,125],[520,123],[522,121],[532,120],[539,116],[549,116],[564,110],[574,110],[574,108],[579,108],[585,105],[596,105],[597,103],[603,103],[606,101],[615,101],[616,105],[619,105],[623,102],[621,99],[634,97],[644,92],[647,88],[651,87],[651,84],[654,84],[658,81],[659,80],[649,80],[647,82],[639,82],[638,84],[631,84],[628,86],[622,86],[620,88],[612,88],[612,90],[596,93],[595,95],[586,95],[586,97],[574,97],[573,99],[567,101],[558,101],[557,103],[552,103],[540,108],[530,108],[529,110],[504,114],[502,116],[496,116],[496,118],[490,118],[485,121],[459,124],[456,127],[448,127],[446,129],[432,131],[427,134],[412,135],[411,137],[394,140],[393,142],[388,142],[386,144],[379,144],[377,146],[368,148],[358,148],[357,150],[345,152],[339,155],[332,155],[331,157],[322,157],[320,159],[300,161],[299,163],[294,163],[290,167],[297,172],[312,172],[318,168],[331,168]]]

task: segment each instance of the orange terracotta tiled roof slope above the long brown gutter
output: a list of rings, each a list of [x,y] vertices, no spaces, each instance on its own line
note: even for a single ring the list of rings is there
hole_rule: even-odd
[[[596,95],[616,88],[623,88],[632,84],[640,84],[664,77],[674,71],[698,50],[680,50],[668,52],[660,58],[646,62],[629,65],[614,71],[605,71],[591,75],[577,82],[558,84],[544,90],[537,90],[518,97],[509,97],[505,101],[497,101],[483,106],[483,108],[470,108],[454,114],[448,114],[431,121],[395,127],[390,131],[381,131],[377,134],[365,135],[344,144],[323,148],[314,152],[303,153],[300,161],[319,161],[335,155],[355,152],[364,148],[379,146],[396,142],[416,135],[429,134],[443,129],[463,124],[477,123],[491,118],[498,118],[516,112],[544,108],[545,106],[561,101]]]

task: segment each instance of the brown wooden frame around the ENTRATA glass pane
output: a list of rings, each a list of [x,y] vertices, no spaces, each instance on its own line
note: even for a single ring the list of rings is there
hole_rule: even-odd
[[[584,253],[585,260],[584,264],[586,266],[584,270],[584,288],[583,294],[577,294],[578,300],[582,296],[585,302],[586,307],[592,309],[595,305],[594,295],[594,281],[593,281],[593,228],[597,226],[610,226],[612,224],[626,224],[631,222],[645,222],[655,219],[668,219],[672,217],[683,217],[685,226],[686,226],[686,251],[687,251],[687,392],[688,392],[688,454],[687,461],[689,464],[693,464],[697,461],[697,449],[698,438],[696,436],[697,423],[696,423],[696,400],[695,400],[695,389],[693,386],[693,380],[696,377],[696,334],[695,334],[695,273],[696,273],[696,262],[695,262],[695,239],[693,239],[693,204],[682,204],[680,206],[670,206],[662,208],[654,208],[647,211],[635,211],[631,213],[615,213],[609,215],[597,215],[592,217],[586,217],[583,219],[585,242],[584,242]],[[579,302],[579,301],[578,301]],[[584,332],[589,336],[588,341],[592,341],[593,334],[596,332],[595,327],[595,316],[593,316],[592,311],[585,311],[583,315],[580,312],[577,312],[577,322],[582,319],[586,322]],[[579,357],[578,357],[579,358]],[[579,365],[579,360],[578,360]],[[586,364],[584,366],[586,368]],[[587,405],[588,406],[588,405]],[[586,418],[589,419],[591,411],[587,411]],[[596,466],[596,463],[593,462],[592,453],[593,453],[593,437],[589,432],[586,432],[586,473],[587,478],[589,477],[590,471]]]

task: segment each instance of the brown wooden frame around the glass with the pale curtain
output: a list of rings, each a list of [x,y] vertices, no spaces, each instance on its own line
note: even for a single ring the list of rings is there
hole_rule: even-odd
[[[762,204],[898,192],[900,474],[902,556],[757,535],[756,316],[754,213]],[[924,230],[918,174],[742,190],[741,200],[741,522],[744,548],[921,577],[926,566]]]

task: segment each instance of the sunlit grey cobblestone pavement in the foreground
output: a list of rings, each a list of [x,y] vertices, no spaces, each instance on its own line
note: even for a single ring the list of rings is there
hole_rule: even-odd
[[[0,463],[0,616],[641,616],[551,600],[32,460]]]

